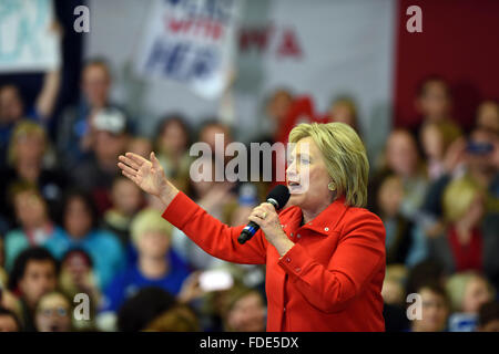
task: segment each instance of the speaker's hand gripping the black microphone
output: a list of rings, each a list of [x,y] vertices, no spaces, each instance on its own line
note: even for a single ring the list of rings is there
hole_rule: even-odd
[[[287,237],[281,226],[279,216],[269,202],[263,202],[253,209],[248,217],[249,221],[256,222],[281,256],[284,256],[295,243]]]

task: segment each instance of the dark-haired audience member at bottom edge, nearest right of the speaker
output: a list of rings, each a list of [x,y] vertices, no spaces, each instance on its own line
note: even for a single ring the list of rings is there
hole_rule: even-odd
[[[450,313],[450,303],[448,294],[440,284],[427,283],[417,289],[417,293],[420,295],[421,310],[420,319],[417,317],[416,311],[408,312],[415,315],[415,319],[410,319],[411,332],[444,332],[447,331],[447,320]],[[417,306],[416,306],[417,308]],[[408,313],[408,314],[409,314]]]

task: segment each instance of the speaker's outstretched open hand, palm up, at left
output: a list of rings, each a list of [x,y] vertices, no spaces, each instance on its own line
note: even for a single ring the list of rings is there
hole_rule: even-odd
[[[154,153],[150,160],[133,154],[120,155],[118,167],[122,174],[130,178],[142,190],[160,198],[166,206],[172,201],[179,190],[166,179],[163,167],[161,167]]]

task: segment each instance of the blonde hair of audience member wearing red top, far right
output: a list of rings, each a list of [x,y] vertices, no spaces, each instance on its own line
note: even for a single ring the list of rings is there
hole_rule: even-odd
[[[452,180],[444,191],[444,216],[447,221],[459,220],[481,194],[481,188],[468,177]]]

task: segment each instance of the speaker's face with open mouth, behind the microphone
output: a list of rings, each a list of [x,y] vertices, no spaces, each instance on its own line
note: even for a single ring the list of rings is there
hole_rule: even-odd
[[[327,188],[332,178],[312,137],[296,143],[288,160],[286,179],[291,192],[289,205],[313,211],[333,200],[333,194]]]

